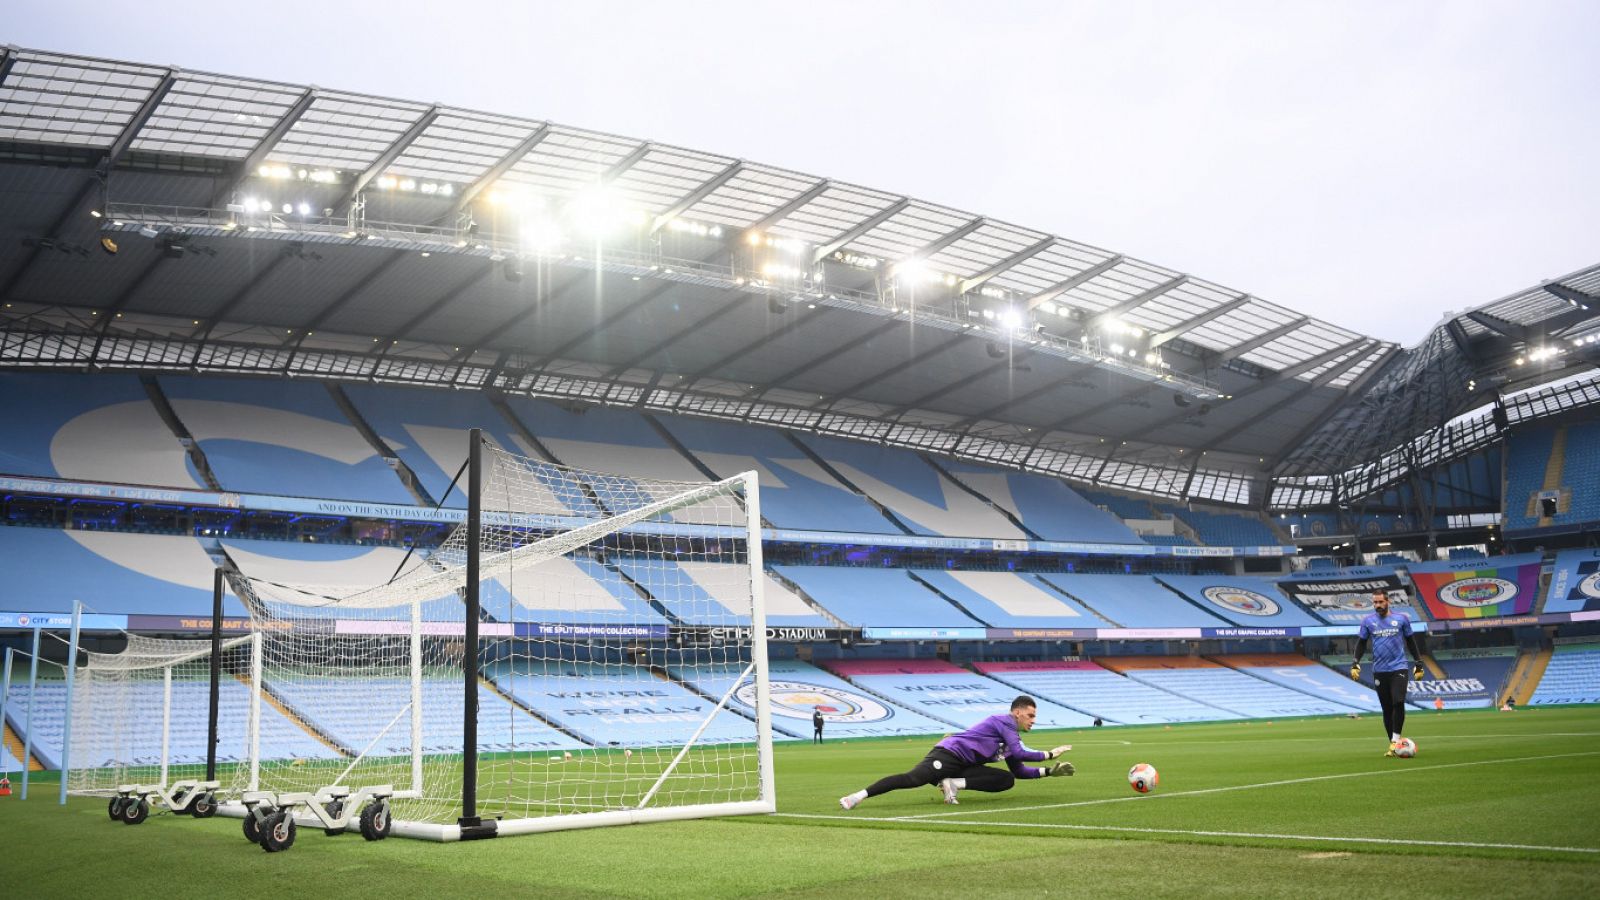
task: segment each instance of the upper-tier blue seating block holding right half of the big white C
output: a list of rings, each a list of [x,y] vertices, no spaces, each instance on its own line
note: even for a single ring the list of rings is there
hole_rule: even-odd
[[[411,493],[323,384],[160,380],[226,490],[411,504]]]

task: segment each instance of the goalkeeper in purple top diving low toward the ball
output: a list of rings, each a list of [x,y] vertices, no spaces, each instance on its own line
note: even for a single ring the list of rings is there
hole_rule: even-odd
[[[1037,717],[1038,703],[1027,695],[1018,697],[1011,701],[1010,713],[989,716],[965,732],[941,740],[910,772],[878,778],[862,791],[838,798],[838,806],[854,809],[867,798],[922,785],[939,785],[944,802],[954,804],[960,802],[955,794],[962,790],[1000,793],[1010,791],[1018,778],[1070,775],[1074,772],[1070,762],[1058,762],[1048,769],[1026,765],[1026,762],[1056,759],[1072,749],[1072,745],[1048,751],[1022,746],[1021,732],[1032,730]],[[984,765],[998,759],[1005,759],[1005,769]]]

